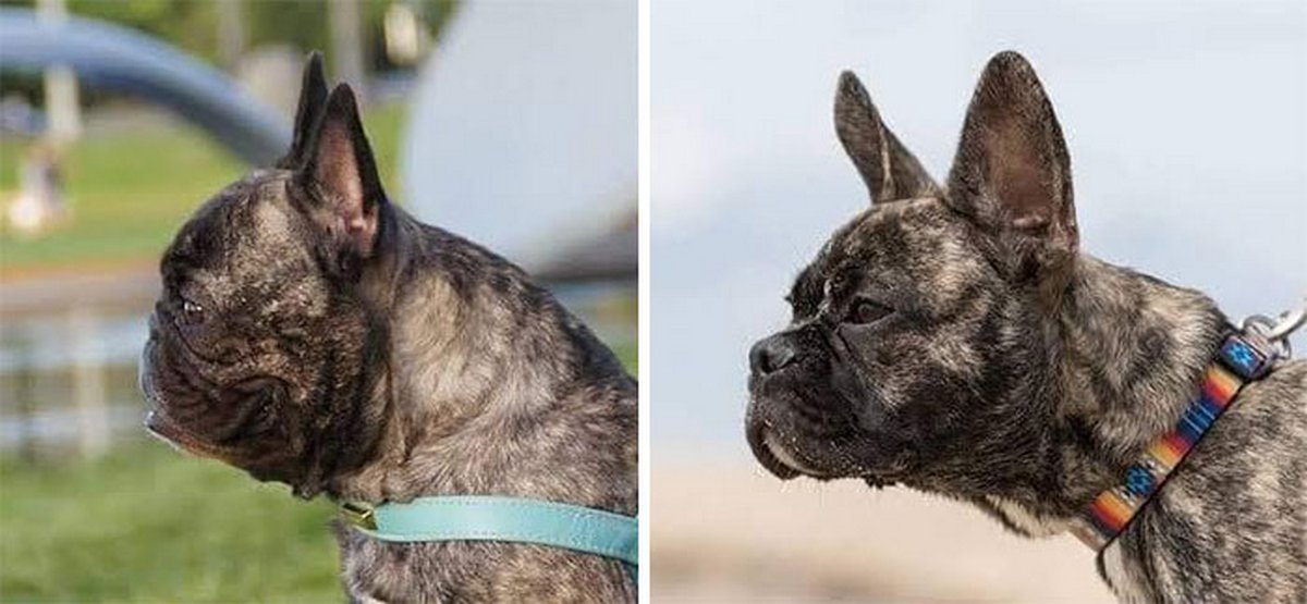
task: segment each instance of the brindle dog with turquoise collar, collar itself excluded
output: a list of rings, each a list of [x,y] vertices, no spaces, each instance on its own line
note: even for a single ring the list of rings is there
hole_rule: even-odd
[[[501,494],[637,511],[637,384],[519,268],[387,200],[348,85],[161,264],[149,429],[303,498]],[[357,601],[634,601],[617,561],[336,527]]]

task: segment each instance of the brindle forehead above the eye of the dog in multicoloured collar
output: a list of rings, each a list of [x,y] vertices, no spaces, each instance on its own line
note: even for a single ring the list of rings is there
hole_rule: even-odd
[[[833,284],[923,292],[920,302],[944,306],[983,269],[967,222],[940,199],[880,203],[836,230],[795,280],[795,319],[814,315]]]

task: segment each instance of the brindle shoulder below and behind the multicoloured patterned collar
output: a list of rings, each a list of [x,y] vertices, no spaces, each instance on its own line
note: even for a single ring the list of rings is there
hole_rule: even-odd
[[[1239,392],[1104,552],[1108,582],[1121,595],[1161,587],[1176,601],[1300,601],[1307,594],[1304,448],[1307,360],[1281,363]],[[1223,574],[1199,577],[1197,566]]]

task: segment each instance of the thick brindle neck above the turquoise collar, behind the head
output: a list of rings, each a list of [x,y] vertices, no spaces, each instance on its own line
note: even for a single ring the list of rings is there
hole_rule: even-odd
[[[388,375],[375,401],[386,429],[374,459],[339,477],[331,494],[374,503],[505,494],[620,507],[600,493],[613,480],[595,469],[625,464],[629,439],[634,477],[635,407],[613,400],[634,400],[634,383],[520,271],[437,233],[443,239],[414,237],[397,267],[406,276],[395,280],[388,312]],[[630,434],[621,428],[627,412]],[[610,434],[596,442],[584,430]]]

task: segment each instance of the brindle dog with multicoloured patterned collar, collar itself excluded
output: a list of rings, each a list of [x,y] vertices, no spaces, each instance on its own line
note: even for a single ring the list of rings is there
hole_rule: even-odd
[[[1078,250],[1061,129],[1030,64],[995,56],[948,186],[851,73],[835,127],[870,209],[750,352],[748,438],[782,478],[859,477],[1068,528],[1197,394],[1227,318]],[[1307,362],[1235,399],[1098,558],[1129,601],[1307,601]]]

